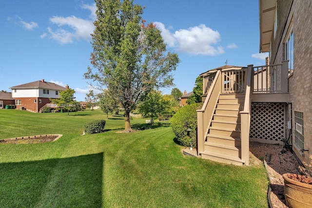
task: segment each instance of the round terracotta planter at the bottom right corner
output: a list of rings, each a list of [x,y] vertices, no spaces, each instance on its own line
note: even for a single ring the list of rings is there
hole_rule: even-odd
[[[292,180],[289,178],[291,175],[297,174],[283,174],[284,192],[287,205],[290,208],[312,208],[312,184]]]

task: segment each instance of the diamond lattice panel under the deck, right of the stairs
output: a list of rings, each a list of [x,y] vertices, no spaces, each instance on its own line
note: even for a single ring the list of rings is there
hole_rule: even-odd
[[[286,138],[286,104],[252,103],[250,139],[280,143]]]

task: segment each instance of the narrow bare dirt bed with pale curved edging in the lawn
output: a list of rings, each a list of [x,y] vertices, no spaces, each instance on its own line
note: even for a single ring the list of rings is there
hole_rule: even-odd
[[[61,134],[22,136],[16,138],[1,139],[0,144],[37,144],[58,140]]]

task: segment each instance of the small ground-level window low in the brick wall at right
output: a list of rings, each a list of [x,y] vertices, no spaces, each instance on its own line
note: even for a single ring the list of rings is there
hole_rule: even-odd
[[[304,148],[304,127],[303,127],[303,113],[299,111],[294,112],[294,144],[300,148]]]

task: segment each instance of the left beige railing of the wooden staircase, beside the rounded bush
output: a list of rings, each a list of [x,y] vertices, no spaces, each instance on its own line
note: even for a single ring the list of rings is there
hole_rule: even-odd
[[[221,73],[220,71],[217,71],[215,78],[210,85],[203,107],[200,110],[197,110],[198,153],[204,151],[205,138],[215,112],[215,106],[219,95],[221,94],[221,86]]]

